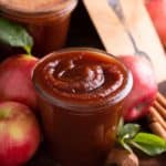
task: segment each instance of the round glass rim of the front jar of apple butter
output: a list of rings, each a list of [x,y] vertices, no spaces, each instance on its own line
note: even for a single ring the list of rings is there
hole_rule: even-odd
[[[118,93],[115,92],[115,95],[112,96],[111,100],[108,100],[107,102],[103,102],[103,103],[98,103],[98,104],[94,104],[94,105],[93,104],[85,105],[84,103],[75,104],[75,102],[73,102],[73,103],[66,102],[65,106],[64,106],[64,101],[61,101],[60,98],[55,98],[51,94],[48,94],[46,91],[42,90],[40,87],[40,85],[35,82],[35,79],[34,79],[34,71],[38,68],[38,65],[40,65],[43,61],[45,61],[52,54],[65,53],[65,52],[76,52],[76,51],[77,52],[86,51],[86,52],[93,52],[93,53],[96,52],[96,53],[100,53],[103,55],[110,55],[114,60],[118,61],[126,72],[126,82],[124,83],[123,89]],[[72,114],[77,114],[77,113],[79,114],[81,114],[81,113],[82,114],[93,114],[94,111],[95,111],[95,113],[96,112],[100,113],[103,108],[115,105],[116,103],[124,100],[133,87],[133,76],[132,76],[132,73],[126,69],[126,66],[116,56],[114,56],[105,51],[102,51],[100,49],[93,49],[93,48],[66,48],[66,49],[61,49],[59,51],[55,51],[55,52],[52,52],[52,53],[45,55],[35,64],[34,70],[32,72],[32,82],[33,82],[34,89],[37,90],[37,92],[40,94],[40,96],[42,98],[45,98],[48,102],[52,103],[53,105],[58,105],[63,108],[68,107],[68,110],[71,111]]]

